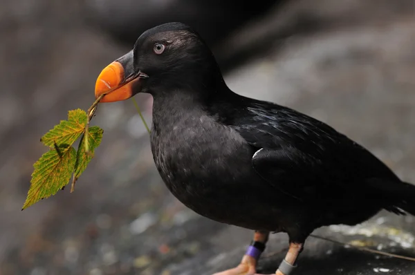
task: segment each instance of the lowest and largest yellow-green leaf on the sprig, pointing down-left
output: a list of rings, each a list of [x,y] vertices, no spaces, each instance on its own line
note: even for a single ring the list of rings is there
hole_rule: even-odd
[[[69,145],[57,146],[56,149],[44,153],[33,164],[35,171],[32,173],[30,189],[23,209],[39,200],[55,195],[57,191],[68,184],[75,167],[75,161],[76,151]]]

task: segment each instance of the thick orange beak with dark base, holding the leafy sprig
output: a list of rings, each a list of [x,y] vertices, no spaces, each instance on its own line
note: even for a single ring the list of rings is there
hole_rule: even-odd
[[[95,99],[104,94],[100,102],[117,102],[129,99],[141,91],[143,78],[147,75],[133,70],[132,50],[113,61],[102,70],[95,83]]]

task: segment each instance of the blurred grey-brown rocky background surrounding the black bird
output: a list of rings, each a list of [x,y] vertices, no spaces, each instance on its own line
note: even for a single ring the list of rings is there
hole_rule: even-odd
[[[75,192],[66,188],[21,211],[33,163],[47,151],[39,138],[68,110],[86,110],[100,70],[141,32],[168,21],[205,37],[237,93],[316,117],[415,182],[413,0],[0,5],[1,275],[208,275],[239,262],[252,232],[194,214],[167,191],[131,100],[98,107],[92,124],[104,138]],[[151,123],[151,97],[136,99]],[[356,228],[319,232],[415,254],[412,217],[380,213]],[[264,271],[275,272],[286,241],[271,238],[267,253],[275,254],[261,261]],[[318,240],[306,244],[299,265],[298,274],[415,274],[409,261]]]

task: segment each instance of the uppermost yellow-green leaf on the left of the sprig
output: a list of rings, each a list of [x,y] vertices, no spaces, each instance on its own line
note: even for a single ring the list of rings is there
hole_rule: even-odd
[[[68,111],[68,120],[61,120],[53,129],[48,131],[40,141],[46,146],[59,145],[71,146],[77,138],[84,133],[86,124],[86,112],[80,108]]]

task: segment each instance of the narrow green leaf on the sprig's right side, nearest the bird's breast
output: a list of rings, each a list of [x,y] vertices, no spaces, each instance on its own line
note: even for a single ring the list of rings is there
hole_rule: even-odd
[[[85,171],[86,166],[92,160],[93,151],[95,150],[95,148],[97,148],[100,145],[103,133],[104,133],[104,131],[102,129],[100,129],[100,127],[98,127],[98,126],[92,126],[92,127],[89,128],[88,142],[89,142],[89,152],[90,152],[90,154],[87,154],[85,152],[85,134],[82,135],[80,145],[78,147],[77,154],[76,154],[76,162],[75,162],[75,167],[73,169],[72,185],[75,184],[77,179]],[[71,188],[71,191],[73,191],[73,186]]]

